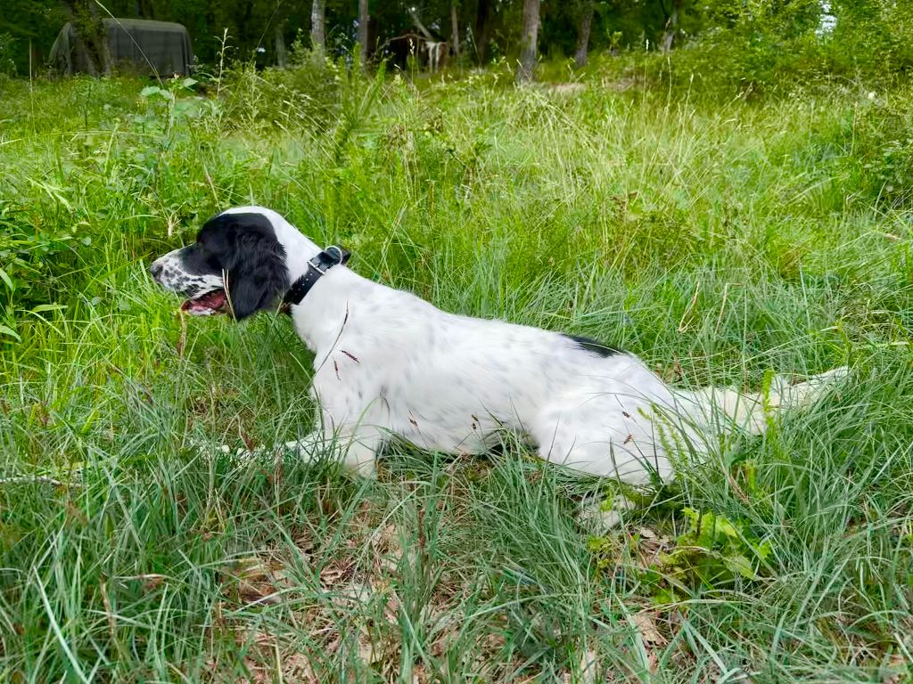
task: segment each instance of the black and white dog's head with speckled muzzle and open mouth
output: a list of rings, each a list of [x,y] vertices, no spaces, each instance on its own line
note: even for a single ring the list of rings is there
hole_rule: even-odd
[[[220,213],[194,244],[156,259],[150,272],[159,285],[187,297],[181,308],[188,314],[246,318],[274,306],[289,289],[287,250],[278,234],[285,226],[278,214],[257,207]]]

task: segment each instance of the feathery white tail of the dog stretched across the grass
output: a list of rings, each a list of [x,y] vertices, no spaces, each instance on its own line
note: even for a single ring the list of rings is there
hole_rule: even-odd
[[[761,435],[778,413],[811,404],[848,375],[849,369],[845,366],[813,375],[802,382],[792,382],[789,376],[777,375],[770,383],[765,383],[760,392],[708,387],[684,392],[684,403],[693,407],[688,407],[687,413],[696,422],[709,423],[718,434],[728,434],[736,428]]]

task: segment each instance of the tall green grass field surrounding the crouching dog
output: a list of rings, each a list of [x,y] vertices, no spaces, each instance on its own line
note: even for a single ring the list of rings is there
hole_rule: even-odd
[[[908,678],[913,97],[612,78],[0,84],[0,680]],[[511,443],[239,462],[308,431],[309,354],[282,317],[183,328],[146,267],[242,202],[683,385],[853,382],[602,538],[603,486]]]

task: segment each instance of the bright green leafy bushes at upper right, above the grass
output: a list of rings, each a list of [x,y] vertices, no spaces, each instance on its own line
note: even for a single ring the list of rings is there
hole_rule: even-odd
[[[791,7],[794,8],[791,9]],[[674,94],[720,100],[782,97],[797,90],[829,93],[834,87],[884,89],[904,83],[913,71],[913,13],[908,3],[791,3],[704,17],[692,39],[669,53],[631,50],[624,78]],[[696,21],[692,17],[692,22]],[[698,23],[701,21],[698,17]],[[603,67],[619,60],[604,57]]]

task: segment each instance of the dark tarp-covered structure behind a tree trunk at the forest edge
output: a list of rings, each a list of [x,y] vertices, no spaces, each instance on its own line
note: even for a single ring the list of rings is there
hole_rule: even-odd
[[[150,76],[186,76],[194,67],[194,48],[184,26],[146,19],[103,21],[115,67]],[[91,71],[86,47],[70,23],[60,29],[48,60],[62,75]]]

